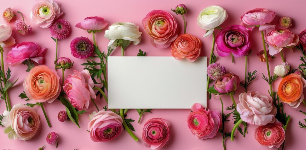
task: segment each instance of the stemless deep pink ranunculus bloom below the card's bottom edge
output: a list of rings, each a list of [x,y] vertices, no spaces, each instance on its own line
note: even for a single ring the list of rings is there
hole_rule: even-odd
[[[142,140],[144,145],[152,150],[162,148],[170,137],[170,123],[162,118],[152,118],[144,124]]]

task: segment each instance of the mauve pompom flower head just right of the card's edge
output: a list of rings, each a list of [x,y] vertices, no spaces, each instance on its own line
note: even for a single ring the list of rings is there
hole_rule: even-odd
[[[225,67],[221,66],[220,63],[212,63],[207,67],[207,75],[216,81],[225,73]]]

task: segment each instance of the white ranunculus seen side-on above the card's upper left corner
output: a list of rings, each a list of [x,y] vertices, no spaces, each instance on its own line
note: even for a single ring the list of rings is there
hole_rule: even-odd
[[[139,27],[131,22],[117,22],[108,27],[105,31],[107,39],[110,39],[108,47],[115,48],[116,39],[124,39],[132,41],[134,45],[140,43],[141,32],[139,32]]]

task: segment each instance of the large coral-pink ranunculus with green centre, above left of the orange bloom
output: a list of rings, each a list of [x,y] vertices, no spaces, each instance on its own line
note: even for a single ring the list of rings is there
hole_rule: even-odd
[[[166,48],[177,38],[177,20],[168,12],[153,10],[141,22],[156,48]]]

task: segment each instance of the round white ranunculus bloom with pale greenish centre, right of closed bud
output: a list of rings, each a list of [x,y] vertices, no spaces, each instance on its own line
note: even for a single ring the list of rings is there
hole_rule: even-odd
[[[227,19],[226,10],[220,6],[208,6],[204,8],[197,19],[200,28],[207,30],[206,36],[210,36],[214,28],[218,27]]]

